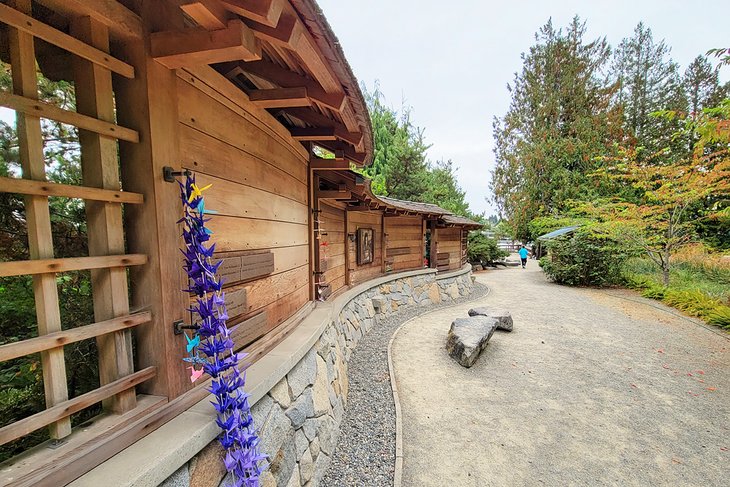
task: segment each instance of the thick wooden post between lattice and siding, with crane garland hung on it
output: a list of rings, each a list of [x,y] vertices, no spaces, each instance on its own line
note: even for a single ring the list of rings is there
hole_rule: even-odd
[[[172,2],[140,2],[146,31],[182,26],[182,13]],[[187,295],[180,262],[182,214],[179,188],[167,183],[163,166],[179,168],[177,76],[154,61],[140,40],[125,42],[123,58],[135,67],[135,79],[115,78],[119,123],[140,134],[138,144],[121,143],[124,189],[144,194],[143,205],[125,208],[127,245],[133,253],[148,256],[148,263],[130,269],[132,305],[152,313],[152,322],[136,331],[138,368],[156,366],[154,380],[138,390],[173,399],[192,385],[180,365],[185,339],[175,336],[172,323],[189,319]]]

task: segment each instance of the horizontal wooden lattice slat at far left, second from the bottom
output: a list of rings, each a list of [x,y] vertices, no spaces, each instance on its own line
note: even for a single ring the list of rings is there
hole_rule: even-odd
[[[71,328],[70,330],[57,331],[21,342],[8,343],[7,345],[0,346],[0,362],[132,328],[143,323],[149,323],[151,319],[152,314],[149,311],[145,311],[80,326],[78,328]]]

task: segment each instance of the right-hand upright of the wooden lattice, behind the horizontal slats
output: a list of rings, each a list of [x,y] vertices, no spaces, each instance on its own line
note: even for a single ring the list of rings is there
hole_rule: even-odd
[[[71,22],[72,34],[87,44],[109,52],[108,28],[91,17],[77,17]],[[111,71],[74,56],[76,110],[106,122],[114,122],[114,92]],[[84,185],[93,188],[119,189],[117,141],[95,132],[79,129],[81,169]],[[89,255],[124,254],[124,227],[119,204],[86,202]],[[94,317],[104,321],[129,314],[127,269],[117,267],[91,271]],[[99,349],[99,380],[109,384],[134,372],[130,330],[117,331],[96,339]],[[116,413],[134,409],[134,389],[120,392],[104,406]]]

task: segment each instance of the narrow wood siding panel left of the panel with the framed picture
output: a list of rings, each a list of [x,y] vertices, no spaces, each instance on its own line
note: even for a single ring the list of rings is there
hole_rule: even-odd
[[[332,293],[345,286],[345,210],[320,203],[319,245],[320,281],[328,283]],[[323,245],[324,244],[324,245]]]

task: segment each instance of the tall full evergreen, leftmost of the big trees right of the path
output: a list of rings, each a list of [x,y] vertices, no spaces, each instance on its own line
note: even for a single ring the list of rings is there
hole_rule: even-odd
[[[578,17],[565,30],[548,21],[508,86],[509,111],[494,120],[490,185],[518,238],[526,238],[533,218],[601,191],[587,174],[610,150],[620,123],[606,77],[610,48],[605,39],[584,41],[585,31]]]

